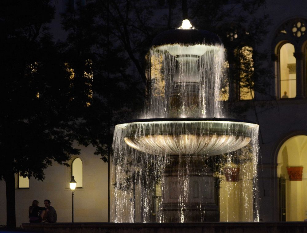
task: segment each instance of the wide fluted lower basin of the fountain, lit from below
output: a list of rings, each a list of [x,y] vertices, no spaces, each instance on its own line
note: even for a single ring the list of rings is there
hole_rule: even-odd
[[[126,144],[150,154],[219,155],[251,141],[254,123],[220,118],[140,119],[117,125]]]

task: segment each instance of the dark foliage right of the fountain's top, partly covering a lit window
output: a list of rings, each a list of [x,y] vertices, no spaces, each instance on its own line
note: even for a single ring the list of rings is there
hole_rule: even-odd
[[[247,96],[255,100],[274,99],[267,87],[274,78],[268,67],[267,51],[260,50],[269,16],[264,14],[265,0],[252,1],[190,1],[189,17],[197,28],[219,35],[226,49],[228,61],[228,105],[233,117],[244,117],[254,108],[251,101],[238,101]],[[269,104],[269,102],[262,102]],[[256,113],[257,115],[257,113]]]

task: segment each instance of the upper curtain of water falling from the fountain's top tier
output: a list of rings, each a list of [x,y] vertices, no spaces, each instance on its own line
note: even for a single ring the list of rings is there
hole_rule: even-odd
[[[179,45],[150,50],[151,98],[144,118],[225,117],[218,101],[226,78],[223,46],[189,47],[194,54]]]

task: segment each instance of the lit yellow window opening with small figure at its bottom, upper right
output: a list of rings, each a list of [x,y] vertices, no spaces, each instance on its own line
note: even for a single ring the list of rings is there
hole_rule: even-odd
[[[293,56],[294,46],[290,43],[282,45],[280,58],[280,98],[296,96],[296,59]]]

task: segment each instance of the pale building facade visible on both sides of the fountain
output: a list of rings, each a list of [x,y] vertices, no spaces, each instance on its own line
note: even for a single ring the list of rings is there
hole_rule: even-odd
[[[69,1],[71,2],[71,1]],[[275,96],[272,107],[255,109],[248,119],[260,125],[259,197],[260,221],[304,221],[307,219],[307,2],[267,0],[263,12],[271,24],[262,48],[274,71],[267,91]],[[55,20],[58,25],[58,18]],[[252,100],[242,100],[252,101]],[[257,113],[255,115],[255,112]],[[54,164],[45,170],[44,181],[22,182],[16,175],[16,223],[28,222],[33,200],[43,206],[51,200],[58,222],[71,222],[72,193],[69,181],[77,177],[74,222],[108,221],[108,169],[94,148],[81,148],[71,167]],[[75,163],[75,165],[74,165]],[[82,183],[82,185],[80,185]],[[0,181],[0,225],[6,224],[5,182]]]

